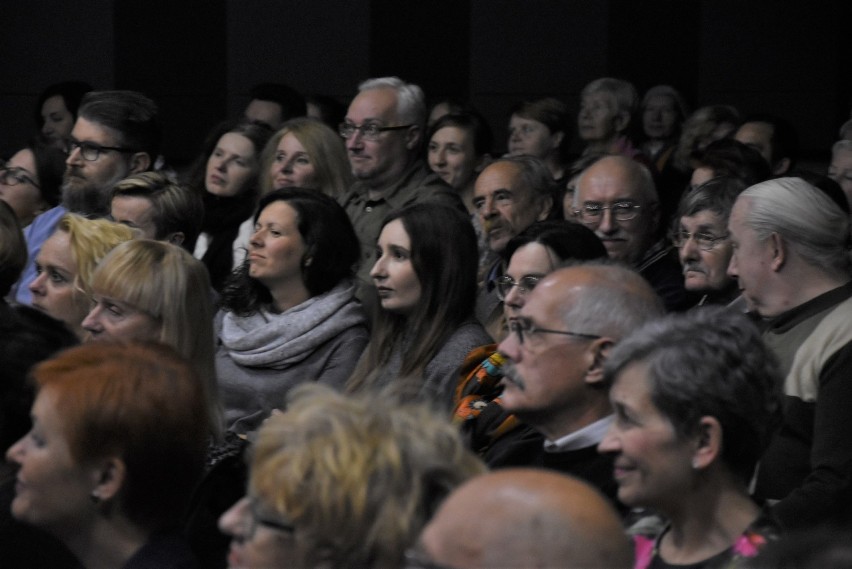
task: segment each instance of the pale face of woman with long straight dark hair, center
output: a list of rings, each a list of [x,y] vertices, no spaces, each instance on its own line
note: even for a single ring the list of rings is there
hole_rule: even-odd
[[[382,308],[408,315],[420,302],[420,279],[411,261],[411,238],[394,219],[382,228],[376,250],[377,260],[370,271]]]

